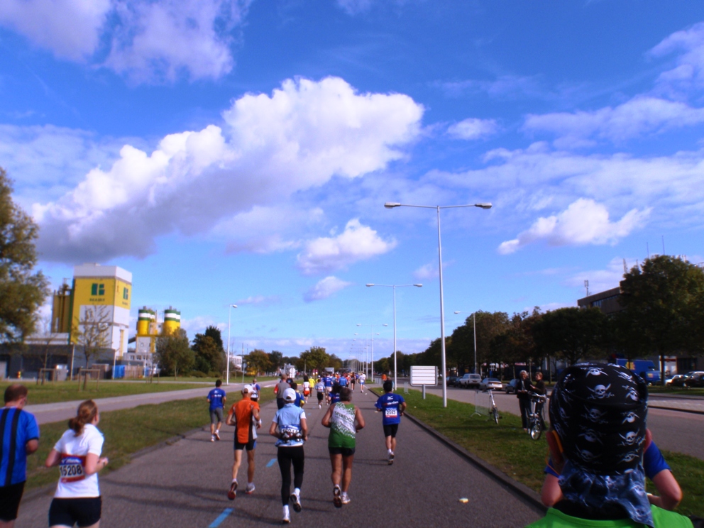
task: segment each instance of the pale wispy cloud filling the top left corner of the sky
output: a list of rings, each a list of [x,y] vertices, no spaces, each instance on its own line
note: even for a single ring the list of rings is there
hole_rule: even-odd
[[[3,0],[0,24],[133,82],[219,79],[251,0]],[[106,48],[107,46],[107,48]]]

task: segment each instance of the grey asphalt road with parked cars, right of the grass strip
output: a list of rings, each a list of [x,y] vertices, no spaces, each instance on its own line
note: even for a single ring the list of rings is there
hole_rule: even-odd
[[[403,390],[403,389],[401,389]],[[442,390],[427,389],[429,394],[442,395]],[[662,395],[654,394],[651,400],[662,400]],[[448,387],[447,397],[459,402],[474,403],[474,390]],[[670,400],[680,400],[672,397]],[[689,398],[681,399],[691,400]],[[500,412],[520,414],[518,399],[515,395],[505,392],[494,392],[494,401]],[[698,400],[704,402],[704,400]],[[699,404],[701,405],[701,404]],[[545,409],[547,413],[547,409]],[[691,412],[669,411],[650,407],[648,409],[648,428],[653,433],[653,439],[660,449],[684,453],[704,460],[704,414]]]

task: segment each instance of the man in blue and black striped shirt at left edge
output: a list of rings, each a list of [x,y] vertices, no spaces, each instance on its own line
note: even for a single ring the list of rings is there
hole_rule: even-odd
[[[0,528],[12,528],[27,480],[27,455],[39,449],[39,426],[34,415],[23,410],[27,387],[5,389],[0,409]]]

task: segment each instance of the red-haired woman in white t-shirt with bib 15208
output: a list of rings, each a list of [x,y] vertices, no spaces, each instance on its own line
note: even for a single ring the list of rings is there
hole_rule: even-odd
[[[98,471],[108,465],[101,458],[103,434],[97,429],[100,421],[98,406],[93,400],[78,406],[69,429],[57,441],[46,459],[45,466],[59,466],[60,478],[49,508],[49,526],[98,528],[101,498]]]

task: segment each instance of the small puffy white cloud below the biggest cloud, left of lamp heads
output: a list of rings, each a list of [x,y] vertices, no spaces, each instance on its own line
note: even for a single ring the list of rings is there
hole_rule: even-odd
[[[369,226],[352,219],[338,236],[308,241],[298,255],[298,266],[305,275],[343,270],[358,260],[382,255],[395,247],[395,240],[385,241]]]

